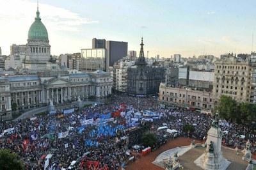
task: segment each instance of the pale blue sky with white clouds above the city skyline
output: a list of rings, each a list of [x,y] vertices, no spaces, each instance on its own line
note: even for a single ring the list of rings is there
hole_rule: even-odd
[[[128,42],[128,50],[183,57],[256,50],[256,1],[40,0],[51,54],[92,48],[92,38]],[[0,47],[26,44],[35,0],[0,0]]]

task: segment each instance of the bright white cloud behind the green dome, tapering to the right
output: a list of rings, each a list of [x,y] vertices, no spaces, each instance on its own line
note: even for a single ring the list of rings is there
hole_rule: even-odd
[[[29,26],[36,17],[36,1],[0,0],[0,4],[0,47],[4,54],[10,54],[12,43],[26,43]],[[39,3],[39,11],[51,42],[61,33],[68,37],[70,31],[80,31],[84,24],[98,23],[97,20],[49,4]]]

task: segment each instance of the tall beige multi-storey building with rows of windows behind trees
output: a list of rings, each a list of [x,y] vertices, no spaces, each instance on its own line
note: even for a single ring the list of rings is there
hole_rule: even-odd
[[[215,62],[213,97],[216,102],[221,95],[234,98],[237,102],[250,102],[251,98],[250,59],[228,56]]]

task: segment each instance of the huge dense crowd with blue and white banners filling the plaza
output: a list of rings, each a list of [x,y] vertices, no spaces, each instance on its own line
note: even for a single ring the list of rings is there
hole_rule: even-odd
[[[146,110],[154,112],[156,119],[148,121],[141,114],[137,122],[132,122],[136,113]],[[2,122],[0,148],[17,153],[27,169],[44,168],[45,157],[50,154],[47,167],[51,168],[67,169],[75,161],[73,169],[119,169],[129,159],[127,149],[139,144],[143,133],[157,133],[157,127],[164,123],[179,135],[204,140],[211,122],[211,116],[206,114],[179,107],[161,108],[154,97],[116,95],[109,104],[77,108],[68,114],[57,112]],[[186,124],[193,125],[195,131],[183,132]],[[252,128],[227,121],[220,121],[220,126],[224,132],[223,144],[243,147],[246,139],[255,144]]]

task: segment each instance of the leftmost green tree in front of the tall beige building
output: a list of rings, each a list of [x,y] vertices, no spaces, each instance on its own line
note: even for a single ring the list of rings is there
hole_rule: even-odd
[[[236,119],[239,118],[239,115],[237,115],[237,113],[239,113],[237,112],[237,102],[231,97],[222,95],[217,108],[220,117],[225,120],[236,121]]]

